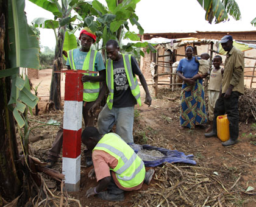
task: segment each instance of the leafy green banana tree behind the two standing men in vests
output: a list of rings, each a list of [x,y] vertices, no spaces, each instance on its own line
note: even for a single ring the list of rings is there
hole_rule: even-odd
[[[105,7],[97,0],[94,0],[93,2],[62,0],[61,5],[57,0],[29,1],[52,12],[55,16],[54,19],[36,18],[34,19],[34,25],[35,27],[54,29],[56,46],[55,60],[52,70],[50,100],[54,102],[56,109],[61,108],[60,74],[55,74],[54,71],[62,69],[63,43],[65,43],[64,51],[77,47],[76,37],[74,36],[74,27],[76,27],[76,30],[80,29],[80,27],[88,26],[93,32],[96,32],[98,37],[97,43],[99,43],[99,40],[102,38],[104,44],[109,38],[120,40],[121,30],[124,27],[128,30],[126,33],[127,38],[130,38],[131,40],[140,40],[137,34],[129,31],[127,20],[133,25],[137,25],[141,35],[144,32],[138,23],[138,16],[135,15],[135,7],[140,0],[107,0],[108,7]],[[77,15],[72,16],[71,11],[73,10],[76,11]],[[96,18],[96,21],[94,21],[94,18]],[[55,32],[56,29],[58,29],[58,32]],[[68,37],[65,38],[65,35],[68,35]]]

